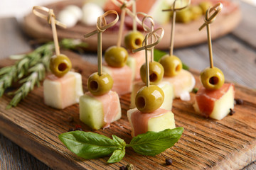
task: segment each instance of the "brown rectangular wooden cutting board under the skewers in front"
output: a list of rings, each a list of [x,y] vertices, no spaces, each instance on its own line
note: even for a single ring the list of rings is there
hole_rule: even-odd
[[[97,70],[95,65],[82,60],[73,52],[63,52],[70,57],[73,68],[82,72],[83,89],[87,91],[87,77]],[[0,67],[13,63],[1,60]],[[198,87],[198,72],[193,72]],[[127,148],[121,162],[107,164],[109,157],[82,159],[70,152],[58,135],[75,125],[91,131],[79,120],[78,104],[56,110],[43,103],[43,87],[35,87],[16,108],[6,110],[11,97],[0,98],[0,132],[26,149],[53,169],[119,169],[119,166],[133,164],[135,169],[241,169],[256,160],[256,91],[235,85],[235,98],[242,98],[243,105],[235,106],[235,114],[223,120],[203,118],[193,111],[195,94],[191,101],[175,99],[173,113],[176,127],[183,127],[181,139],[156,157],[146,157]],[[121,96],[122,118],[105,130],[93,130],[107,137],[117,135],[127,143],[132,140],[127,120],[130,94]],[[171,158],[173,164],[165,165]]]

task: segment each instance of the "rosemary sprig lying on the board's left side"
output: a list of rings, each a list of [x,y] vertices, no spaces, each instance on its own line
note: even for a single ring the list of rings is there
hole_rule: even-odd
[[[74,50],[75,47],[86,47],[86,44],[80,40],[63,39],[60,41],[60,47]],[[18,61],[12,66],[0,69],[0,97],[16,81],[21,84],[21,87],[9,93],[14,95],[14,98],[6,108],[17,106],[18,102],[25,98],[36,84],[40,85],[40,81],[45,78],[49,70],[49,61],[53,51],[53,42],[48,42],[26,55],[10,56],[12,60]]]

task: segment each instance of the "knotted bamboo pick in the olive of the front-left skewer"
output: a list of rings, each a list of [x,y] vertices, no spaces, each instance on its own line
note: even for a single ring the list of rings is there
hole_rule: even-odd
[[[110,14],[116,15],[116,18],[111,23],[107,23],[105,17]],[[118,19],[119,17],[118,17],[117,11],[114,11],[114,10],[107,11],[102,16],[99,16],[97,18],[97,25],[96,25],[97,29],[84,35],[85,38],[89,38],[90,36],[95,35],[97,33],[97,64],[98,64],[99,76],[102,75],[102,33],[107,28],[114,26],[114,24],[117,23]]]

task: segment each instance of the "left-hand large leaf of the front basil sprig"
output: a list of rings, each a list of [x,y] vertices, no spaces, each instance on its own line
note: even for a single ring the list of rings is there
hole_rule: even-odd
[[[63,144],[79,157],[95,159],[112,154],[117,149],[122,149],[117,142],[109,137],[93,132],[73,131],[60,134],[59,139]]]

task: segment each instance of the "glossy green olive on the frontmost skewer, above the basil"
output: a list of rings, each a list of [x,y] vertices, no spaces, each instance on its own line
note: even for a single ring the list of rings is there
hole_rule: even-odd
[[[135,105],[142,113],[151,113],[164,102],[164,91],[156,85],[144,86],[135,98]]]

